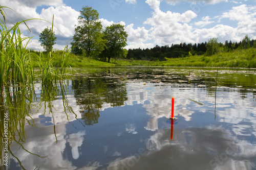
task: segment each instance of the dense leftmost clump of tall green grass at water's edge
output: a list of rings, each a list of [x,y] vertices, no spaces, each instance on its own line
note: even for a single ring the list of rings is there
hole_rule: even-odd
[[[1,13],[3,8],[0,6]],[[5,16],[5,15],[3,15]],[[19,25],[23,20],[7,27],[5,17],[0,19],[0,90],[5,84],[26,85],[33,81],[33,68],[30,62],[30,53],[26,49],[31,37],[22,37]]]

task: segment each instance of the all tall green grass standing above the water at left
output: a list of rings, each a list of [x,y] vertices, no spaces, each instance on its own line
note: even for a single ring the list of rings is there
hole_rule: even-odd
[[[63,79],[67,74],[67,63],[71,49],[66,46],[63,50],[60,68],[53,66],[51,52],[47,55],[45,53],[39,53],[39,55],[38,53],[30,53],[27,45],[32,37],[23,37],[19,26],[22,23],[26,25],[26,21],[32,19],[7,24],[4,8],[8,7],[0,6],[0,12],[3,16],[3,19],[0,18],[0,93],[3,92],[5,85],[25,86],[33,83],[35,65],[40,68],[42,83],[46,84],[53,80]],[[12,27],[8,27],[8,25],[12,25]],[[31,60],[32,55],[37,59],[36,64],[33,63],[35,61]]]

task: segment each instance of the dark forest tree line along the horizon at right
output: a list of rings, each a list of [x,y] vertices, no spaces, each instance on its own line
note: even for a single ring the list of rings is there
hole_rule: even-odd
[[[153,48],[136,48],[129,49],[127,54],[127,59],[135,60],[151,60],[151,61],[164,61],[166,58],[179,58],[179,57],[189,57],[197,55],[207,55],[211,56],[219,52],[231,52],[237,48],[249,48],[256,47],[256,41],[250,40],[248,35],[245,35],[242,41],[232,42],[225,41],[225,43],[218,42],[218,38],[210,38],[208,42],[203,43],[180,43],[159,46],[156,45]]]

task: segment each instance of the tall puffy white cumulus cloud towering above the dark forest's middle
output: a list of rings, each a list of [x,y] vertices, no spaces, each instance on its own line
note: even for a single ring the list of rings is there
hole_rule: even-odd
[[[191,10],[184,13],[160,10],[160,1],[147,0],[146,3],[155,11],[151,18],[147,18],[144,24],[151,25],[151,37],[158,45],[170,43],[190,42],[192,26],[188,25],[197,14]]]

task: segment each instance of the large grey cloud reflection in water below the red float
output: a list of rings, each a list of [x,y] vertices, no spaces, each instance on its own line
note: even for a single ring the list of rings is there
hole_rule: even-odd
[[[175,133],[174,141],[170,141],[169,130],[156,132],[147,140],[150,144],[145,154],[116,159],[107,169],[237,169],[253,166],[250,159],[254,155],[241,155],[241,146],[227,138],[224,129],[176,128]],[[189,140],[187,134],[191,134]]]

